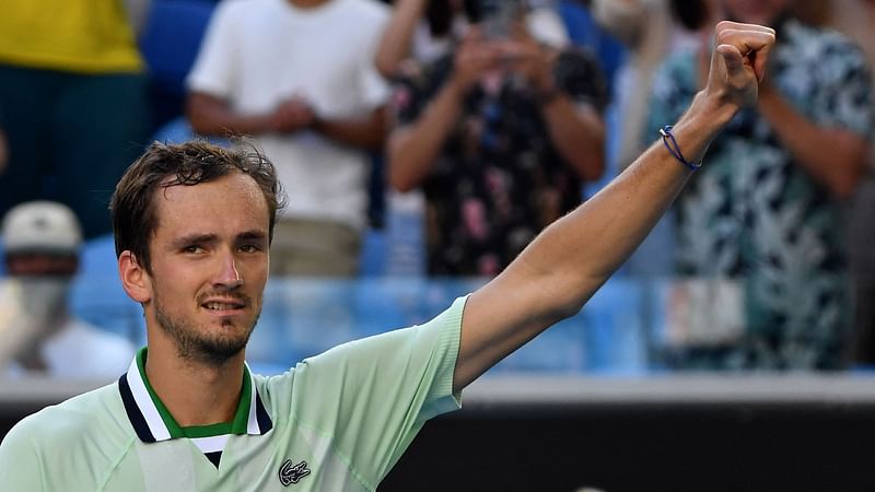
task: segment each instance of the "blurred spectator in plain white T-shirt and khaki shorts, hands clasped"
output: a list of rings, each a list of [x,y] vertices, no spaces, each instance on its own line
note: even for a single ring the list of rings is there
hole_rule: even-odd
[[[374,68],[388,8],[375,0],[223,2],[188,77],[188,116],[244,133],[289,195],[271,246],[280,276],[358,273],[369,150],[382,149],[388,86]]]

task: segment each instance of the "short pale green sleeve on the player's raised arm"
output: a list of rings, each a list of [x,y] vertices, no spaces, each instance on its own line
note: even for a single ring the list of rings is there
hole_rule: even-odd
[[[295,368],[292,411],[376,487],[453,394],[465,298],[429,323],[337,347]]]

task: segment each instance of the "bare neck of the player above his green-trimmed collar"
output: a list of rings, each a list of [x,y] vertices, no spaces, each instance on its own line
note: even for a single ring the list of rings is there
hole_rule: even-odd
[[[180,359],[163,337],[149,337],[145,374],[179,426],[231,422],[240,403],[245,354],[217,367]]]

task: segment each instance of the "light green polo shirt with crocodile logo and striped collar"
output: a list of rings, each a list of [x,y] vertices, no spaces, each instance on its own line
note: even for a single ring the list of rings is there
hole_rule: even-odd
[[[151,390],[142,351],[118,383],[19,422],[0,444],[2,489],[374,491],[427,420],[460,406],[464,306],[280,376],[247,367],[225,424],[180,427]]]

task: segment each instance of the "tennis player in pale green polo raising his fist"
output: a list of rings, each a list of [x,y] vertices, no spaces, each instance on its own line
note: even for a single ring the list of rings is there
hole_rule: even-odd
[[[244,362],[281,199],[257,153],[152,145],[112,202],[118,269],[148,347],[112,385],[0,445],[10,491],[373,491],[422,424],[571,316],[648,234],[708,143],[757,98],[774,32],[722,22],[707,86],[607,188],[429,323],[262,377]],[[462,437],[462,436],[460,436]]]

